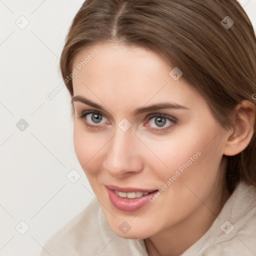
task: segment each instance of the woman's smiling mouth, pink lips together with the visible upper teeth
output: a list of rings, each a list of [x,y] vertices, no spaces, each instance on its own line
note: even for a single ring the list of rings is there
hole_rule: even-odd
[[[108,198],[112,205],[121,211],[133,212],[144,207],[157,189],[121,188],[106,186]]]

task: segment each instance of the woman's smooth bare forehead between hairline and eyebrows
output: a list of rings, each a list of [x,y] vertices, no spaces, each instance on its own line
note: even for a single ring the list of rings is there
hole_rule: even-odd
[[[108,104],[125,107],[149,101],[173,101],[188,107],[203,103],[182,76],[178,80],[170,76],[173,67],[144,48],[94,45],[75,56],[73,68],[78,71],[73,77],[74,95],[97,102],[104,99]]]

